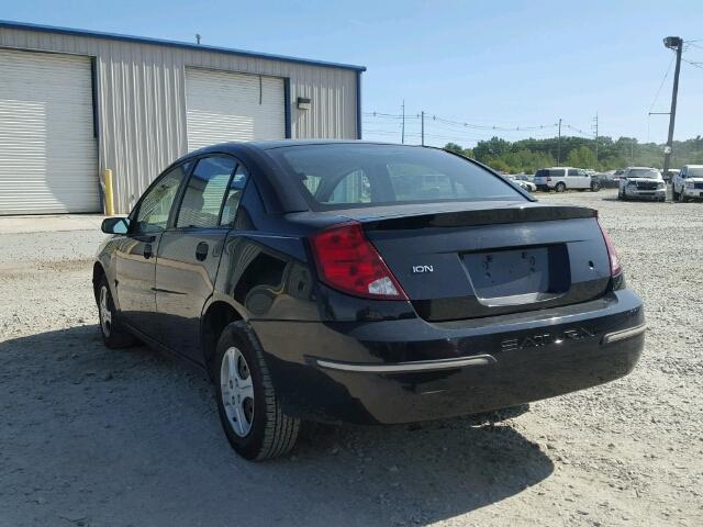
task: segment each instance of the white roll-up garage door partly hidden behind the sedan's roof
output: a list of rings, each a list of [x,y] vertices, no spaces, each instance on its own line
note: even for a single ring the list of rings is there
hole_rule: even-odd
[[[283,79],[186,68],[188,149],[286,137]]]

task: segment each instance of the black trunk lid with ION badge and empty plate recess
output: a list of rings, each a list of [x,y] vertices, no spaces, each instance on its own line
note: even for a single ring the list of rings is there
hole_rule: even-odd
[[[525,202],[337,211],[359,221],[417,313],[451,321],[585,302],[610,282],[592,209]]]

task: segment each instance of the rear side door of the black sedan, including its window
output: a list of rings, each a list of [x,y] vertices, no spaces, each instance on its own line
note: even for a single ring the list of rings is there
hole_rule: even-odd
[[[196,362],[202,362],[200,316],[212,295],[222,246],[245,183],[244,167],[233,157],[199,159],[174,225],[158,246],[156,310],[165,344]]]

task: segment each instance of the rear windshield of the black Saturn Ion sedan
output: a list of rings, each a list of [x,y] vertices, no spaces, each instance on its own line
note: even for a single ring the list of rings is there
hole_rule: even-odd
[[[268,150],[295,178],[313,210],[443,201],[526,201],[467,159],[412,146],[324,144]]]

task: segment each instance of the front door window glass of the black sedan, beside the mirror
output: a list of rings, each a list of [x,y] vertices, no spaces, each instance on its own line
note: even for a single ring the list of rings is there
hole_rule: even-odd
[[[178,188],[189,170],[190,162],[172,168],[144,194],[136,213],[135,232],[157,233],[166,228]]]

